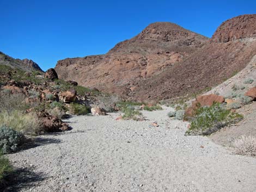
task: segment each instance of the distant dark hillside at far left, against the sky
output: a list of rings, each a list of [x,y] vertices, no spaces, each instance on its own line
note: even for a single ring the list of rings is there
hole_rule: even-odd
[[[41,68],[34,61],[29,59],[14,59],[3,52],[0,52],[0,65],[8,65],[13,68],[17,68],[24,71],[31,72],[32,70],[41,71]]]

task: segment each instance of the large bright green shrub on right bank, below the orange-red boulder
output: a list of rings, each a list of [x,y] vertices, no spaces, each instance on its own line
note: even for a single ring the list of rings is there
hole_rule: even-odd
[[[190,129],[186,132],[187,135],[209,135],[243,118],[240,114],[230,112],[220,103],[200,107],[195,114]]]

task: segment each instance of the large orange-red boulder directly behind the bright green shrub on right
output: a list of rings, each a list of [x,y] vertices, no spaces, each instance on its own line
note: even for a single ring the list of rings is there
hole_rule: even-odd
[[[196,102],[194,104],[199,104],[200,107],[203,106],[212,106],[214,103],[223,103],[225,101],[223,96],[210,94],[210,95],[200,95],[197,97]]]

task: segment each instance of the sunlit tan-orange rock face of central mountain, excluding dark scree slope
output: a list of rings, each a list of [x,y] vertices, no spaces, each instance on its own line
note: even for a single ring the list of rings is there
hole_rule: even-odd
[[[60,78],[107,92],[119,92],[132,82],[153,77],[174,66],[206,44],[208,38],[176,24],[150,24],[130,40],[105,55],[58,61]]]

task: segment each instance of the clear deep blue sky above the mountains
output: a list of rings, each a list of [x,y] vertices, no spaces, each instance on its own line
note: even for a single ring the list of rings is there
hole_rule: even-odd
[[[211,37],[228,18],[256,14],[256,1],[0,0],[0,10],[0,51],[47,70],[59,59],[106,53],[156,21]]]

